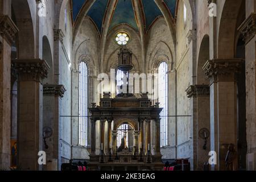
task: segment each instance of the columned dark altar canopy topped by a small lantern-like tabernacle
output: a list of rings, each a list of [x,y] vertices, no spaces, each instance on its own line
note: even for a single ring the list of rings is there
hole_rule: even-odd
[[[125,75],[133,67],[131,52],[121,48],[118,69]],[[128,83],[128,81],[127,81]],[[127,91],[129,86],[127,86]],[[111,98],[104,92],[100,105],[90,111],[90,162],[92,170],[162,170],[159,104],[147,93],[126,92]],[[100,122],[100,154],[96,154],[96,122]],[[107,126],[107,127],[106,127]],[[107,131],[106,131],[107,130]]]

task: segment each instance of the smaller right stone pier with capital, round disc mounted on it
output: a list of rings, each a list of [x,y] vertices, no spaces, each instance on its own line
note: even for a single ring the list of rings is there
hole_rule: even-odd
[[[204,149],[205,138],[201,138],[201,129],[210,130],[210,89],[209,85],[191,85],[186,90],[188,98],[193,102],[193,160],[194,169],[203,170],[208,162],[210,139]],[[204,137],[204,134],[203,134]]]

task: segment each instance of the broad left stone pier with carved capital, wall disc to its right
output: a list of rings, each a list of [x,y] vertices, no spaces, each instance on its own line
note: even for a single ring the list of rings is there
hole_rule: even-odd
[[[49,66],[45,60],[13,60],[18,73],[18,167],[39,170],[43,150],[43,85]]]

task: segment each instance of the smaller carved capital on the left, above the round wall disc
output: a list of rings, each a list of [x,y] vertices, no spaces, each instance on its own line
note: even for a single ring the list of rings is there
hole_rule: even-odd
[[[64,93],[67,90],[65,89],[64,85],[44,85],[43,86],[43,95],[44,96],[56,96],[63,98]]]

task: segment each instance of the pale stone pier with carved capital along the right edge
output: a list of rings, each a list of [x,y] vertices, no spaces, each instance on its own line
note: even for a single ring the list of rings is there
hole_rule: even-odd
[[[246,20],[238,28],[245,41],[247,170],[256,170],[256,1],[246,1]]]

